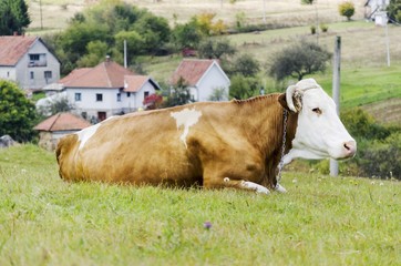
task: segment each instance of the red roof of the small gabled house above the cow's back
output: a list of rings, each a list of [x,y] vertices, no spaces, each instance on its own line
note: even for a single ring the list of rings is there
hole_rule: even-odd
[[[183,78],[187,85],[196,85],[215,60],[184,59],[172,76],[172,84],[176,84]]]

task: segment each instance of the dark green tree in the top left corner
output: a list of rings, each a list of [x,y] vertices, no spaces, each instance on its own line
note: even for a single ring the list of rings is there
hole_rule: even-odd
[[[21,34],[31,23],[24,0],[1,0],[0,14],[0,35]]]

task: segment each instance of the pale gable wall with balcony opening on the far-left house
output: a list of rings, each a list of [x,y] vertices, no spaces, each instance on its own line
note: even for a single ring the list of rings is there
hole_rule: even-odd
[[[29,54],[45,54],[45,66],[29,66]],[[49,52],[49,50],[39,40],[28,50],[28,52],[21,58],[16,65],[16,80],[23,89],[42,89],[47,84],[56,82],[60,80],[60,62],[56,58]],[[44,78],[44,71],[51,71],[51,79]],[[31,72],[33,72],[33,79],[31,79]]]

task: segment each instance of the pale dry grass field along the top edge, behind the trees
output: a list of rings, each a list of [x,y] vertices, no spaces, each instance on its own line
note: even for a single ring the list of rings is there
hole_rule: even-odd
[[[66,21],[76,11],[82,11],[100,0],[41,0],[42,25],[47,29],[62,29]],[[275,23],[286,25],[301,25],[312,23],[316,18],[316,7],[319,20],[325,23],[343,21],[338,14],[337,0],[317,1],[317,6],[301,4],[300,0],[237,0],[229,3],[228,0],[125,0],[141,8],[146,8],[153,13],[165,17],[174,23],[185,22],[191,17],[209,12],[215,13],[216,19],[223,19],[226,23],[235,23],[236,16],[244,12],[247,23]],[[362,19],[366,12],[363,0],[353,1],[356,14],[353,19]],[[265,3],[265,4],[264,4]],[[31,28],[41,27],[40,1],[30,1],[30,13],[32,17]]]

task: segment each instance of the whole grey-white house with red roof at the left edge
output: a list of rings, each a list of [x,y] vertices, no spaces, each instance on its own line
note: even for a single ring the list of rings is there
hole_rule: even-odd
[[[43,40],[29,35],[0,37],[0,79],[38,90],[60,79],[60,61]]]

